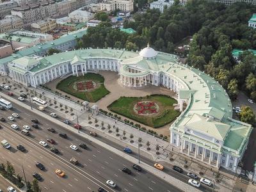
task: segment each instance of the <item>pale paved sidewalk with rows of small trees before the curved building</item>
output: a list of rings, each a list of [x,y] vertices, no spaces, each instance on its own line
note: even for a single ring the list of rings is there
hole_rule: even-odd
[[[1,79],[0,79],[1,81]],[[22,86],[15,86],[16,89],[12,88],[13,92],[16,92],[17,94],[20,94],[20,91],[25,92],[25,88],[22,88]],[[51,102],[53,103],[54,100],[58,101],[58,104],[53,104],[52,106],[49,106],[52,108],[52,110],[55,111],[60,116],[63,116],[67,118],[68,120],[76,123],[76,114],[79,119],[79,124],[81,124],[83,127],[86,127],[86,129],[90,131],[95,132],[102,132],[104,134],[105,138],[108,138],[111,141],[114,141],[118,143],[119,145],[122,145],[124,147],[131,147],[132,150],[138,150],[138,139],[142,138],[141,141],[141,155],[148,157],[149,159],[153,159],[154,161],[161,162],[164,164],[164,166],[168,168],[172,168],[173,165],[177,165],[182,167],[187,172],[194,172],[197,175],[199,175],[199,172],[203,172],[204,176],[207,179],[214,180],[216,178],[216,173],[214,173],[214,170],[211,169],[211,167],[207,166],[207,164],[202,165],[201,163],[198,164],[194,159],[191,159],[189,157],[184,156],[183,154],[180,154],[179,149],[173,148],[170,146],[170,143],[164,140],[161,140],[159,138],[155,138],[154,136],[147,134],[146,132],[139,131],[138,129],[134,129],[133,127],[129,125],[125,125],[122,122],[116,122],[113,118],[109,118],[108,116],[104,115],[97,115],[92,116],[92,113],[85,112],[83,107],[76,102],[70,102],[70,100],[67,100],[65,98],[62,98],[60,96],[54,95],[50,92],[46,92],[45,90],[41,90],[40,88],[28,88],[29,90],[32,90],[33,92],[37,92],[38,95],[42,94],[44,92],[44,96],[42,99],[49,101],[51,99]],[[30,93],[30,91],[29,91]],[[42,94],[43,95],[43,94]],[[68,113],[65,113],[64,110],[60,110],[60,104],[63,104],[64,108],[65,106],[68,107],[67,111]],[[58,106],[58,108],[56,108]],[[70,108],[73,109],[72,113],[74,115],[71,115]],[[90,116],[91,119],[88,119]],[[95,123],[95,119],[97,123]],[[104,122],[104,130],[102,130],[101,122]],[[108,129],[108,124],[110,125],[110,129]],[[115,127],[118,127],[119,131],[116,132],[116,129],[113,128],[113,125]],[[65,127],[67,127],[66,124],[64,124]],[[110,131],[111,132],[110,132]],[[125,131],[125,137],[124,139],[124,131]],[[120,134],[119,136],[116,134]],[[131,137],[131,134],[133,138]],[[133,143],[131,143],[131,140]],[[149,141],[149,146],[146,145],[147,141]],[[156,154],[156,146],[159,145],[159,155]],[[147,148],[150,148],[150,150],[147,150]],[[170,161],[170,158],[173,159],[173,161]],[[184,168],[184,165],[187,165],[187,168]],[[217,172],[217,171],[215,171]],[[220,183],[215,185],[215,188],[218,191],[232,191],[235,183],[236,183],[236,177],[233,175],[230,175],[227,172],[221,172],[220,171]]]

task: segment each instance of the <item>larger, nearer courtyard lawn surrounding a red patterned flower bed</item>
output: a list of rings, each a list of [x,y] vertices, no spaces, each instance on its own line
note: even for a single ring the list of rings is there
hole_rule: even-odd
[[[134,111],[134,105],[142,100],[149,100],[156,102],[159,106],[159,111],[156,115],[138,115]],[[173,104],[177,103],[175,99],[167,95],[149,95],[147,97],[120,97],[108,106],[110,111],[113,111],[119,115],[131,118],[136,122],[148,125],[150,127],[163,127],[169,124],[177,116],[180,115],[179,111],[174,110]]]

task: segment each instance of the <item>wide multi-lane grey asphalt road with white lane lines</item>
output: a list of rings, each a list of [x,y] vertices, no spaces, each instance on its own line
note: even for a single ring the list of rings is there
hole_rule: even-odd
[[[2,129],[0,130],[0,139],[10,141],[11,150],[1,148],[1,161],[10,161],[15,166],[15,170],[19,173],[23,164],[26,172],[26,178],[32,180],[32,173],[37,172],[42,175],[44,180],[40,186],[43,189],[51,191],[97,191],[102,186],[108,191],[114,191],[106,186],[106,180],[112,179],[116,182],[115,191],[180,191],[174,186],[164,182],[164,180],[152,175],[148,172],[136,172],[132,170],[131,175],[123,173],[121,169],[124,166],[131,167],[131,163],[120,156],[116,156],[112,152],[105,150],[99,145],[95,145],[91,141],[80,138],[77,134],[67,131],[49,120],[37,116],[18,105],[13,104],[11,110],[1,111],[1,116],[7,118],[12,113],[19,113],[20,117],[15,118],[12,122],[7,120],[5,123],[0,122]],[[20,134],[23,125],[31,125],[31,118],[40,120],[40,129],[31,127],[31,136]],[[49,118],[52,118],[49,116]],[[17,124],[19,131],[13,130],[10,125]],[[56,133],[47,131],[48,127],[56,130]],[[68,139],[58,136],[59,132],[65,132]],[[60,154],[56,155],[49,151],[49,147],[42,147],[38,144],[40,140],[46,141],[51,138],[56,141],[55,147],[60,150]],[[74,151],[70,148],[71,144],[79,145],[86,143],[88,149]],[[23,153],[16,149],[17,144],[26,147],[27,152]],[[78,166],[69,163],[71,157],[76,157],[79,161]],[[46,167],[46,171],[42,172],[35,167],[35,162],[40,161]],[[65,178],[58,177],[54,171],[60,168],[67,174]],[[132,168],[131,168],[132,169]]]

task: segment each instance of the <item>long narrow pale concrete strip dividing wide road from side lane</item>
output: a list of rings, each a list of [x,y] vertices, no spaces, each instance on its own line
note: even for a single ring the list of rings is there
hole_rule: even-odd
[[[7,95],[5,95],[4,93],[1,93],[1,92],[0,92],[0,95],[2,97],[8,97]],[[137,163],[137,161],[138,161],[138,159],[135,159],[134,157],[131,157],[128,154],[125,154],[124,152],[122,152],[120,150],[117,150],[116,148],[111,147],[111,146],[107,145],[106,143],[103,143],[102,141],[99,141],[99,140],[93,138],[92,136],[89,136],[88,134],[85,134],[84,132],[80,131],[78,133],[76,131],[76,129],[74,129],[74,127],[71,127],[71,126],[69,126],[67,124],[64,124],[63,122],[60,122],[59,120],[55,120],[54,118],[49,118],[49,116],[45,115],[41,111],[38,111],[37,109],[31,110],[30,106],[20,102],[19,100],[13,99],[12,97],[8,97],[8,100],[10,100],[11,102],[13,102],[15,104],[18,104],[19,106],[22,106],[23,108],[28,109],[29,111],[31,111],[33,113],[36,113],[37,115],[43,116],[47,120],[50,120],[54,124],[60,125],[64,129],[68,129],[69,131],[72,131],[72,132],[74,132],[76,134],[79,134],[79,136],[83,136],[84,138],[86,138],[88,140],[91,140],[93,143],[96,143],[97,145],[100,145],[101,147],[104,147],[107,150],[110,150],[111,152],[115,153],[116,155],[118,155],[120,157],[124,157],[125,159],[127,159],[128,161],[131,161],[132,163]],[[148,172],[153,173],[157,177],[160,177],[161,179],[165,180],[166,182],[172,184],[176,188],[181,189],[182,191],[188,191],[188,192],[190,192],[191,190],[196,191],[196,192],[200,191],[199,189],[193,188],[189,184],[186,184],[186,183],[180,181],[179,179],[176,179],[175,177],[172,177],[171,175],[168,175],[168,174],[166,174],[164,172],[161,172],[161,171],[157,170],[156,168],[148,165],[147,163],[143,163],[141,161],[140,166],[143,169],[147,170]]]

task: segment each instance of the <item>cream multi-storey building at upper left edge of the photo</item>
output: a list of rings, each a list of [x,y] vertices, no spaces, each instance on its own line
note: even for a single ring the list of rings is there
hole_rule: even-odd
[[[0,33],[4,33],[12,29],[22,29],[23,27],[23,20],[15,15],[6,15],[4,19],[0,20]]]

